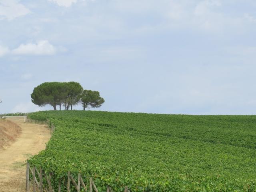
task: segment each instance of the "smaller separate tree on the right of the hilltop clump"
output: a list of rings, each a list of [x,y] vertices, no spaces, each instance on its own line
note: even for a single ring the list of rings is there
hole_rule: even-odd
[[[100,107],[105,101],[100,97],[100,92],[92,90],[84,90],[81,95],[81,102],[84,110],[91,106],[92,108]]]

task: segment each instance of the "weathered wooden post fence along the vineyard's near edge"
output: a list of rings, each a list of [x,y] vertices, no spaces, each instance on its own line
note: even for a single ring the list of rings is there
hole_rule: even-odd
[[[30,173],[32,174],[32,181],[30,180]],[[39,181],[36,178],[36,174],[39,177]],[[48,188],[47,187],[44,188],[43,177],[46,179],[46,182],[48,184]],[[27,162],[27,167],[26,167],[26,192],[30,192],[30,183],[31,182],[32,182],[33,192],[36,192],[36,191],[43,192],[44,190],[46,192],[54,192],[54,189],[52,188],[51,178],[52,178],[52,173],[49,173],[49,176],[47,176],[42,171],[42,168],[40,168],[39,171],[38,171],[38,169],[35,166],[31,167],[30,164]],[[61,183],[62,182],[59,179],[58,180],[58,192],[62,192],[61,191]],[[81,188],[84,188],[84,191],[86,191],[86,192],[88,191],[80,173],[78,174],[78,180],[77,180],[77,183],[76,183],[73,176],[70,174],[70,171],[68,171],[68,179],[67,179],[67,184],[66,184],[67,192],[70,192],[70,187],[71,187],[70,184],[74,185],[77,192],[80,192]],[[90,178],[90,180],[89,180],[89,192],[93,192],[93,191],[98,192],[98,189],[97,189],[95,183],[93,182],[92,178]],[[109,186],[107,186],[107,191],[106,192],[113,192],[113,190]],[[130,192],[130,190],[128,189],[128,186],[125,186],[124,192]]]

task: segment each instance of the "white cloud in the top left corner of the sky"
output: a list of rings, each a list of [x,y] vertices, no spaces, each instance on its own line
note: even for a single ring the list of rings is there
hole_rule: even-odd
[[[0,20],[24,16],[30,13],[30,10],[19,3],[19,0],[0,0]]]

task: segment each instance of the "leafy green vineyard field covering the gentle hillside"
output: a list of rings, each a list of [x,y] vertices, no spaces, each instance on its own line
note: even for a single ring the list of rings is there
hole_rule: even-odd
[[[46,150],[29,160],[54,172],[55,191],[68,171],[92,177],[99,192],[125,185],[131,192],[256,191],[256,116],[47,111],[29,118],[56,127]]]

